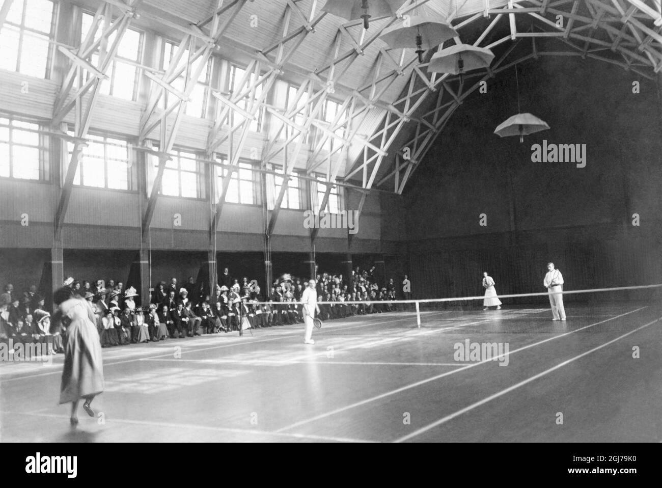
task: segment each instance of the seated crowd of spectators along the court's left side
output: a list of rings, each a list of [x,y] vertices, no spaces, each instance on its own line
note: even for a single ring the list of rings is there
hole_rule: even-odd
[[[193,277],[183,285],[173,277],[169,283],[158,283],[146,301],[140,301],[134,287],[124,287],[113,279],[91,282],[68,278],[64,286],[89,302],[101,346],[109,347],[303,323],[298,302],[305,283],[305,279],[284,274],[263,295],[257,281],[234,278],[225,268],[213,297],[203,296],[204,288]],[[402,283],[408,285],[406,276]],[[394,305],[387,301],[408,298],[407,286],[397,289],[392,278],[379,287],[374,266],[363,271],[356,268],[351,277],[318,274],[316,291],[322,320],[393,311]],[[52,352],[62,353],[66,330],[50,328],[50,318],[50,307],[36,286],[17,293],[13,285],[5,285],[0,294],[0,342],[46,342]]]

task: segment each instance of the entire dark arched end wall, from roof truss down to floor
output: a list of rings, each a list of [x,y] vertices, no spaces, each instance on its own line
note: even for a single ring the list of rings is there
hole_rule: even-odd
[[[513,69],[459,107],[404,192],[414,294],[481,293],[482,271],[499,293],[544,291],[550,260],[571,289],[662,281],[658,85],[574,58],[527,62],[518,79],[521,111],[549,130],[523,144],[493,134],[517,112]],[[586,167],[532,162],[543,140],[586,144]]]

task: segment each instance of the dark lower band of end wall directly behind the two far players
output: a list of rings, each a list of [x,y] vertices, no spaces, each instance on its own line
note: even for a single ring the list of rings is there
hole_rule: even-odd
[[[488,271],[501,295],[540,293],[545,291],[542,282],[549,261],[563,273],[565,291],[662,282],[659,248],[610,240],[414,253],[410,256],[412,292],[416,298],[482,295],[483,271]]]

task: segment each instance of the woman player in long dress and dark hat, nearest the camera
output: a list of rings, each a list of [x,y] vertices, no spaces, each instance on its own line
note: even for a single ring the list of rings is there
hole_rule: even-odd
[[[54,302],[58,311],[52,324],[55,326],[61,322],[67,330],[60,404],[71,403],[70,423],[76,426],[80,400],[85,399],[83,409],[87,415],[95,416],[90,404],[104,389],[101,340],[89,303],[73,297],[71,289],[56,291]]]

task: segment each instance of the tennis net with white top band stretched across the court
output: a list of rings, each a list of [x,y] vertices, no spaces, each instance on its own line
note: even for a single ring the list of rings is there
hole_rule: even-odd
[[[551,300],[556,312],[553,313]],[[559,307],[559,302],[563,308]],[[399,327],[455,328],[477,324],[476,330],[497,324],[495,330],[531,332],[549,330],[547,322],[557,317],[563,326],[581,327],[604,320],[604,328],[618,328],[624,323],[616,318],[646,311],[655,318],[662,315],[662,284],[615,287],[590,290],[563,291],[561,293],[520,293],[498,295],[495,299],[484,296],[449,297],[411,300],[318,300],[321,318],[331,326],[343,322],[370,322],[375,324],[397,322]],[[302,323],[303,303],[289,301],[244,300],[240,316],[252,328]],[[563,321],[565,315],[566,320]],[[556,322],[555,322],[556,323]],[[481,326],[482,324],[482,326]],[[556,324],[560,326],[561,324]],[[481,328],[482,327],[482,328]],[[595,330],[600,330],[600,327]]]

